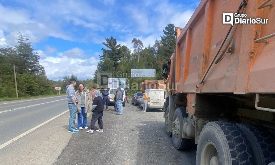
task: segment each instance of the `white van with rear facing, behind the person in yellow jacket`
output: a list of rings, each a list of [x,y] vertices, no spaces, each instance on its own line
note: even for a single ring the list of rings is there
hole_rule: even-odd
[[[164,89],[146,89],[144,91],[148,95],[147,109],[159,108],[163,109],[164,99]],[[143,96],[140,98],[139,107],[143,107]]]

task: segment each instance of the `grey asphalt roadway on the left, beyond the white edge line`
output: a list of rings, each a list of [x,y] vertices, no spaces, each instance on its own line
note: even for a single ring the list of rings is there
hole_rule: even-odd
[[[1,102],[0,145],[67,109],[66,96]]]

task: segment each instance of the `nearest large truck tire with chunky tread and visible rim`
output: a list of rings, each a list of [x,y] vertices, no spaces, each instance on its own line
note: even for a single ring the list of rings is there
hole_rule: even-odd
[[[235,124],[213,121],[203,127],[197,145],[197,165],[255,164],[243,131]]]

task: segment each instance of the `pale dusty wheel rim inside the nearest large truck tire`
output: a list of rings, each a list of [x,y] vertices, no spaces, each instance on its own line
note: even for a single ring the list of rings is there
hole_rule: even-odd
[[[206,141],[201,150],[201,165],[220,165],[218,151],[212,141]]]

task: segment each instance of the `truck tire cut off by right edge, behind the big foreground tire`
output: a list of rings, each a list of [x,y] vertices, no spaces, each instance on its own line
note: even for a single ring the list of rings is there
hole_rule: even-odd
[[[275,161],[275,139],[257,125],[236,124],[246,134],[250,142],[256,164],[269,164]]]

